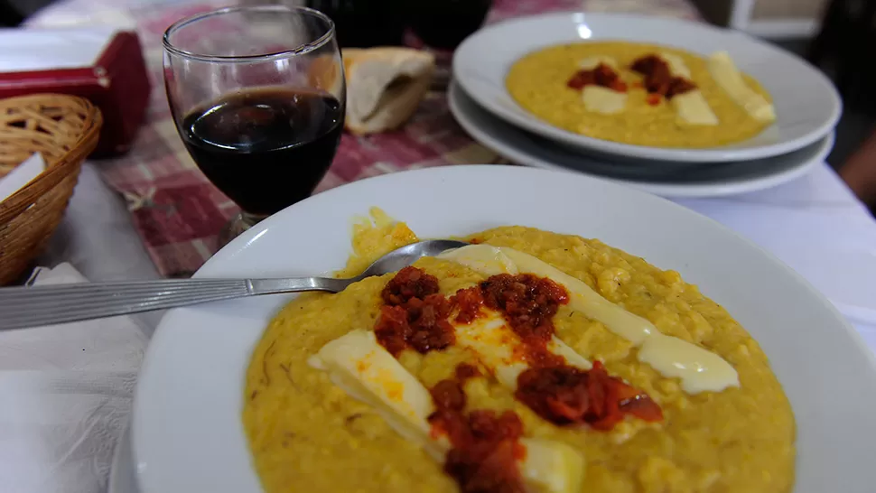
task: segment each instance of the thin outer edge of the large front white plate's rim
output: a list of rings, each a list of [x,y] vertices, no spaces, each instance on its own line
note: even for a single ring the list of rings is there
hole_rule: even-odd
[[[365,186],[367,186],[367,183],[370,184],[370,183],[375,182],[375,181],[392,180],[392,179],[395,179],[393,177],[397,178],[399,175],[406,175],[406,174],[411,174],[411,173],[420,173],[420,174],[424,174],[424,175],[425,174],[441,174],[444,172],[454,173],[454,172],[458,172],[461,169],[479,171],[481,169],[487,169],[487,168],[489,168],[495,172],[499,172],[500,170],[507,170],[508,172],[516,172],[516,173],[537,173],[537,174],[550,173],[550,171],[536,169],[536,168],[526,168],[526,167],[519,167],[519,166],[507,166],[507,165],[496,165],[496,164],[457,165],[457,166],[446,166],[446,167],[436,167],[436,168],[425,168],[425,169],[409,170],[409,171],[405,171],[405,172],[389,173],[389,174],[385,174],[385,175],[369,177],[368,179],[363,179],[360,181],[355,181],[355,182],[349,183],[347,185],[337,187],[335,189],[331,189],[330,191],[323,192],[325,194],[328,194],[328,196],[322,197],[321,200],[331,200],[331,197],[333,197],[337,194],[347,193],[347,192],[344,192],[342,190],[345,188],[348,188],[348,187],[349,188],[365,187]],[[554,174],[558,174],[558,173],[554,172]],[[582,176],[576,180],[601,181],[599,179],[595,179],[595,178],[592,178],[589,176]],[[843,317],[843,315],[834,307],[834,305],[831,302],[829,302],[827,300],[827,298],[825,297],[825,295],[823,293],[820,293],[818,290],[816,290],[815,287],[812,284],[808,283],[806,281],[806,279],[802,277],[801,274],[797,274],[796,271],[794,271],[792,268],[790,268],[788,265],[786,265],[784,262],[782,262],[780,259],[778,259],[777,256],[772,255],[769,251],[765,250],[763,247],[758,246],[757,244],[755,244],[754,242],[752,242],[748,238],[743,237],[741,234],[733,231],[730,228],[723,226],[720,222],[715,221],[714,219],[708,218],[708,217],[706,217],[706,216],[704,216],[704,215],[702,215],[702,214],[700,214],[692,209],[685,208],[684,206],[676,204],[675,202],[657,197],[657,196],[655,196],[653,194],[649,194],[647,192],[636,191],[636,190],[630,189],[629,187],[624,187],[622,185],[618,185],[618,184],[614,184],[614,183],[608,183],[608,184],[604,184],[604,185],[611,187],[611,188],[614,188],[615,190],[624,189],[625,193],[633,193],[635,195],[638,195],[639,198],[643,198],[645,200],[652,201],[652,203],[657,203],[657,202],[662,201],[662,202],[664,202],[665,207],[668,207],[670,209],[674,209],[677,214],[684,215],[685,217],[687,217],[688,219],[691,219],[693,221],[699,221],[701,224],[698,228],[703,228],[705,225],[710,225],[710,226],[705,226],[705,227],[712,228],[713,230],[715,228],[720,230],[722,235],[725,235],[727,237],[732,237],[735,241],[737,241],[741,244],[740,245],[741,247],[749,249],[750,253],[752,253],[753,255],[759,256],[763,260],[768,261],[770,265],[773,265],[776,268],[778,268],[782,273],[784,273],[787,276],[789,281],[792,281],[793,284],[796,284],[800,289],[802,289],[811,301],[819,302],[819,306],[822,310],[825,311],[825,315],[829,315],[829,318],[832,321],[834,321],[835,324],[837,324],[837,327],[835,327],[836,329],[839,329],[840,327],[842,327],[842,332],[844,332],[848,336],[853,347],[856,349],[857,352],[861,353],[860,356],[862,356],[863,358],[866,359],[867,367],[870,370],[869,371],[870,378],[874,379],[874,381],[876,381],[876,378],[874,378],[874,376],[876,376],[876,355],[874,355],[873,352],[867,347],[866,342],[863,340],[861,334],[858,333],[858,331],[853,328],[851,323]],[[334,191],[334,193],[330,193],[331,191]],[[317,196],[314,196],[313,198],[308,199],[308,200],[312,200],[315,197],[321,197],[321,196],[322,196],[322,193],[318,194]],[[293,209],[293,207],[295,207],[295,206],[292,206],[292,207],[284,209],[284,210]],[[262,223],[259,223],[259,225],[257,225],[255,228],[250,229],[249,231],[244,233],[241,237],[238,237],[235,240],[233,240],[227,247],[221,249],[217,253],[216,256],[211,257],[210,260],[207,263],[205,263],[205,265],[203,265],[198,270],[198,272],[195,274],[195,277],[210,277],[210,275],[214,274],[214,271],[222,268],[221,265],[233,262],[235,256],[237,256],[241,251],[245,250],[250,243],[258,241],[258,237],[262,236],[268,230],[268,228],[282,227],[282,224],[283,224],[282,221],[285,220],[285,219],[283,219],[284,215],[285,214],[282,212],[279,214],[276,214],[275,216],[266,219]],[[580,233],[573,233],[573,234],[580,234]],[[166,346],[168,343],[165,342],[164,340],[172,337],[172,327],[168,327],[166,325],[168,323],[167,319],[172,318],[172,317],[169,317],[168,315],[171,315],[173,313],[180,313],[180,312],[183,312],[184,310],[186,310],[186,309],[173,309],[172,311],[168,312],[168,314],[165,315],[165,317],[163,318],[163,320],[159,324],[158,328],[155,330],[154,339],[152,340],[151,344],[149,345],[149,348],[147,349],[146,354],[144,356],[144,364],[143,364],[143,367],[141,368],[141,380],[138,381],[137,387],[135,389],[135,400],[134,400],[134,407],[133,407],[133,414],[132,414],[133,419],[132,419],[132,424],[131,424],[132,432],[133,432],[132,433],[132,443],[133,443],[132,448],[133,448],[133,454],[134,454],[134,458],[135,458],[135,466],[137,466],[136,467],[137,480],[138,480],[138,484],[140,485],[143,493],[155,493],[155,490],[154,489],[147,489],[144,486],[144,483],[142,482],[142,478],[144,475],[144,469],[140,466],[142,465],[141,460],[143,458],[140,457],[141,451],[139,450],[139,447],[137,445],[137,442],[139,441],[138,439],[139,439],[140,435],[145,433],[145,430],[142,429],[142,423],[140,422],[140,419],[138,419],[138,414],[140,414],[140,412],[141,412],[140,405],[143,402],[143,397],[141,395],[141,381],[144,379],[144,377],[146,377],[146,374],[149,371],[149,367],[151,367],[152,365],[158,364],[157,361],[159,359],[159,356],[156,355],[156,351],[159,349],[156,349],[156,348]],[[146,470],[148,470],[148,468]],[[256,476],[255,471],[252,471],[252,475],[254,477]]]

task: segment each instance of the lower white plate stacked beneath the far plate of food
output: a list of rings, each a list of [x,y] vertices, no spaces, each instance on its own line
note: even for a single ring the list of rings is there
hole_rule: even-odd
[[[821,138],[821,143],[816,141],[813,144],[818,144],[819,147],[815,151],[815,153],[810,156],[805,162],[800,163],[794,168],[789,170],[785,170],[782,172],[777,172],[773,175],[768,175],[766,177],[760,177],[750,181],[737,181],[734,183],[714,183],[714,184],[685,184],[685,183],[671,183],[671,182],[649,182],[647,179],[641,181],[627,180],[625,178],[613,177],[613,176],[603,176],[596,172],[586,172],[582,170],[575,170],[571,168],[566,168],[562,164],[555,164],[546,161],[545,159],[537,156],[535,154],[529,153],[525,150],[517,149],[515,144],[507,144],[505,142],[500,142],[499,144],[492,144],[496,142],[498,139],[493,136],[486,135],[486,131],[482,130],[480,126],[475,125],[471,121],[471,117],[468,115],[468,111],[464,110],[460,107],[461,103],[459,101],[460,98],[471,98],[468,94],[465,93],[465,90],[461,88],[454,80],[452,80],[450,87],[447,91],[447,101],[448,107],[450,108],[452,116],[456,119],[457,123],[462,127],[462,129],[471,136],[471,138],[477,141],[479,144],[487,147],[494,153],[499,154],[500,156],[513,161],[518,164],[522,164],[525,166],[530,166],[533,168],[540,168],[544,170],[552,170],[558,172],[572,172],[583,174],[586,176],[590,176],[603,181],[610,181],[616,184],[628,186],[631,188],[638,189],[639,191],[646,191],[648,193],[653,193],[660,197],[664,198],[674,198],[674,199],[704,199],[704,198],[717,198],[717,197],[728,197],[732,195],[738,195],[740,193],[749,193],[754,191],[763,191],[768,190],[773,187],[777,187],[779,185],[785,184],[789,181],[797,180],[802,176],[805,176],[807,173],[812,172],[818,165],[825,162],[825,158],[830,152],[833,150],[834,142],[835,142],[835,131],[829,132],[827,135]],[[478,103],[471,98],[471,103],[477,105]],[[480,105],[478,105],[480,107]],[[481,107],[483,108],[483,107]],[[489,113],[489,112],[487,112]],[[489,113],[490,118],[497,118],[497,116]],[[499,118],[497,118],[499,119]],[[499,119],[499,123],[503,125],[508,125],[508,122]],[[520,132],[526,132],[526,130],[522,128],[515,127],[515,130]],[[484,142],[488,141],[488,142]],[[501,146],[502,149],[498,149],[497,147]],[[569,153],[573,155],[571,150],[565,149],[564,147],[558,147],[559,152]],[[585,159],[593,159],[597,160],[599,158],[591,157],[591,156],[583,156]],[[772,156],[764,159],[778,159],[781,155]]]

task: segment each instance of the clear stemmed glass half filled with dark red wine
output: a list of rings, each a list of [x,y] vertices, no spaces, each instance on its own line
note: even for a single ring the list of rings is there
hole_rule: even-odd
[[[163,44],[164,86],[182,142],[241,209],[220,245],[310,196],[344,122],[331,20],[305,7],[228,7],[174,23]]]

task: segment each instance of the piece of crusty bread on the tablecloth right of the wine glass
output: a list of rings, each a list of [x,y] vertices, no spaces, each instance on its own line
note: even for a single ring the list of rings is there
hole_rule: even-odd
[[[435,68],[431,53],[409,48],[345,49],[347,129],[375,134],[402,125],[414,114]]]

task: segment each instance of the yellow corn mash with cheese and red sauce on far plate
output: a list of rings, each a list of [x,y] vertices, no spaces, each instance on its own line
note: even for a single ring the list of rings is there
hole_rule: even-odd
[[[703,58],[636,42],[550,46],[517,60],[506,86],[545,122],[622,144],[733,144],[776,119],[767,91],[726,52]]]

